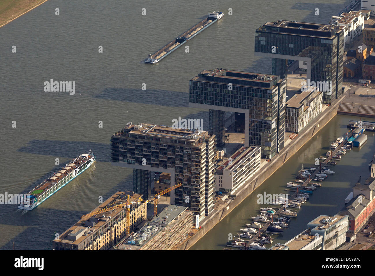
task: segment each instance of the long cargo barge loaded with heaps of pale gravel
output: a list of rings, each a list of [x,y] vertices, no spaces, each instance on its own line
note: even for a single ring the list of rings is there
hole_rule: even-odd
[[[168,54],[172,53],[177,48],[181,47],[187,41],[192,39],[194,36],[198,35],[198,33],[202,32],[203,30],[210,27],[213,23],[217,22],[220,18],[223,17],[223,12],[211,12],[207,18],[195,24],[186,32],[182,33],[177,38],[173,39],[171,42],[157,50],[153,54],[149,54],[148,58],[144,60],[145,63],[157,63],[162,60],[164,57],[168,56]]]

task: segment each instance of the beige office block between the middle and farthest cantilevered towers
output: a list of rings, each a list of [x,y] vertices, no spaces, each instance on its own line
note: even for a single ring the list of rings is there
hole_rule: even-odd
[[[309,87],[294,95],[285,104],[285,131],[299,133],[322,112],[323,93],[317,87]]]

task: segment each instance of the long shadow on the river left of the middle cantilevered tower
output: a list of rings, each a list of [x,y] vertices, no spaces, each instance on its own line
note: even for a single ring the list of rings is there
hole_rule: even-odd
[[[189,93],[162,89],[107,88],[95,98],[104,100],[126,101],[130,103],[152,104],[168,107],[188,107]]]

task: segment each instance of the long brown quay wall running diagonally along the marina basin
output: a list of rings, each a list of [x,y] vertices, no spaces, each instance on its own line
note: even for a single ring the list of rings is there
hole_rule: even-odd
[[[286,150],[281,151],[274,160],[272,164],[266,169],[261,169],[260,173],[255,176],[246,186],[245,189],[240,191],[236,195],[236,198],[225,205],[223,210],[216,212],[211,216],[192,237],[190,237],[184,244],[182,244],[178,250],[187,250],[193,246],[200,238],[202,238],[208,231],[210,231],[217,223],[220,222],[226,215],[228,215],[234,208],[236,208],[245,198],[247,198],[257,187],[259,187],[270,175],[276,172],[279,167],[282,166],[293,154],[295,154],[303,145],[305,145],[315,134],[320,131],[324,125],[326,125],[332,118],[337,115],[337,110],[340,102],[344,99],[337,100],[333,106],[330,106],[327,112],[325,111],[323,116],[318,119],[317,122],[309,126],[309,128],[304,131],[300,136],[298,135],[292,142],[286,146]]]

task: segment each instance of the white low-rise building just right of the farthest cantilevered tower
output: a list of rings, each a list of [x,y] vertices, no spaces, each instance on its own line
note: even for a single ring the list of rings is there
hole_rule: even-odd
[[[365,26],[365,15],[360,11],[343,12],[340,16],[333,16],[330,24],[344,27],[344,41],[349,44],[362,33]]]

